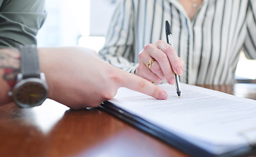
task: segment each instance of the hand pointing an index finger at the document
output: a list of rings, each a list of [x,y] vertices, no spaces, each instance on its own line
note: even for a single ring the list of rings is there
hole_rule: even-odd
[[[167,98],[162,88],[113,67],[88,48],[39,48],[39,61],[48,82],[49,98],[73,109],[98,107],[112,99],[120,87],[156,99]]]

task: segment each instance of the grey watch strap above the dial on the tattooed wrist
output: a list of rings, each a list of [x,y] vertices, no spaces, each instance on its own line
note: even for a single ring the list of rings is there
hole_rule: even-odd
[[[40,77],[37,47],[35,45],[19,46],[22,79]]]

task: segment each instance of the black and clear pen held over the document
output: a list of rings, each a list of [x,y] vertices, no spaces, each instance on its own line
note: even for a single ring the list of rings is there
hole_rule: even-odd
[[[172,43],[172,33],[171,33],[171,30],[170,30],[170,24],[168,21],[166,21],[166,40],[167,40],[167,43],[172,45],[172,47],[174,47],[174,44]],[[176,80],[176,89],[177,89],[177,95],[179,97],[181,97],[181,87],[179,85],[179,76],[175,75],[175,80]]]

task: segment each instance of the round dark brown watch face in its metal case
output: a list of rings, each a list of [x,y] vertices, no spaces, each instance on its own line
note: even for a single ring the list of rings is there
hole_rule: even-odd
[[[36,81],[35,81],[36,80]],[[23,82],[21,86],[16,88],[14,93],[14,101],[20,107],[34,107],[41,105],[47,97],[48,88],[40,82],[40,79]],[[37,81],[39,80],[39,82]]]

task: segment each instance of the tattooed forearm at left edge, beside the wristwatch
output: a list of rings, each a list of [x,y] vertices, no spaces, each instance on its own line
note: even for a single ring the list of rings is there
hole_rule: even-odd
[[[14,86],[19,71],[20,52],[16,48],[0,49],[0,105],[12,101],[8,92]]]

